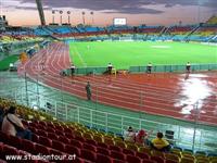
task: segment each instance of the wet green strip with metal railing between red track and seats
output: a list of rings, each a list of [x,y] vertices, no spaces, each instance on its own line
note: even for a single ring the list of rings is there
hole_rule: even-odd
[[[118,134],[123,134],[128,126],[136,129],[144,128],[145,130],[154,130],[151,138],[158,130],[164,133],[173,130],[175,131],[173,141],[176,146],[217,152],[215,138],[217,127],[199,124],[197,117],[194,118],[193,123],[190,123],[174,118],[165,121],[156,116],[151,118],[152,115],[143,113],[126,113],[129,111],[106,111],[103,109],[105,105],[99,103],[100,98],[97,96],[94,101],[89,102],[64,92],[69,89],[64,82],[59,90],[46,87],[41,82],[39,76],[37,80],[33,80],[28,77],[0,75],[0,95],[30,108],[37,106],[61,121],[79,122],[90,127]],[[43,83],[46,84],[46,80]],[[100,90],[100,86],[95,90]],[[99,92],[95,95],[100,96]]]

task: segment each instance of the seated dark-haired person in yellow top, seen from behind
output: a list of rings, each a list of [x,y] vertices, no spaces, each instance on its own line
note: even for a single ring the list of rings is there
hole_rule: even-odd
[[[167,140],[163,139],[164,135],[163,133],[158,131],[156,134],[156,138],[154,138],[151,142],[151,147],[155,150],[159,151],[169,151],[170,150],[170,145]]]

